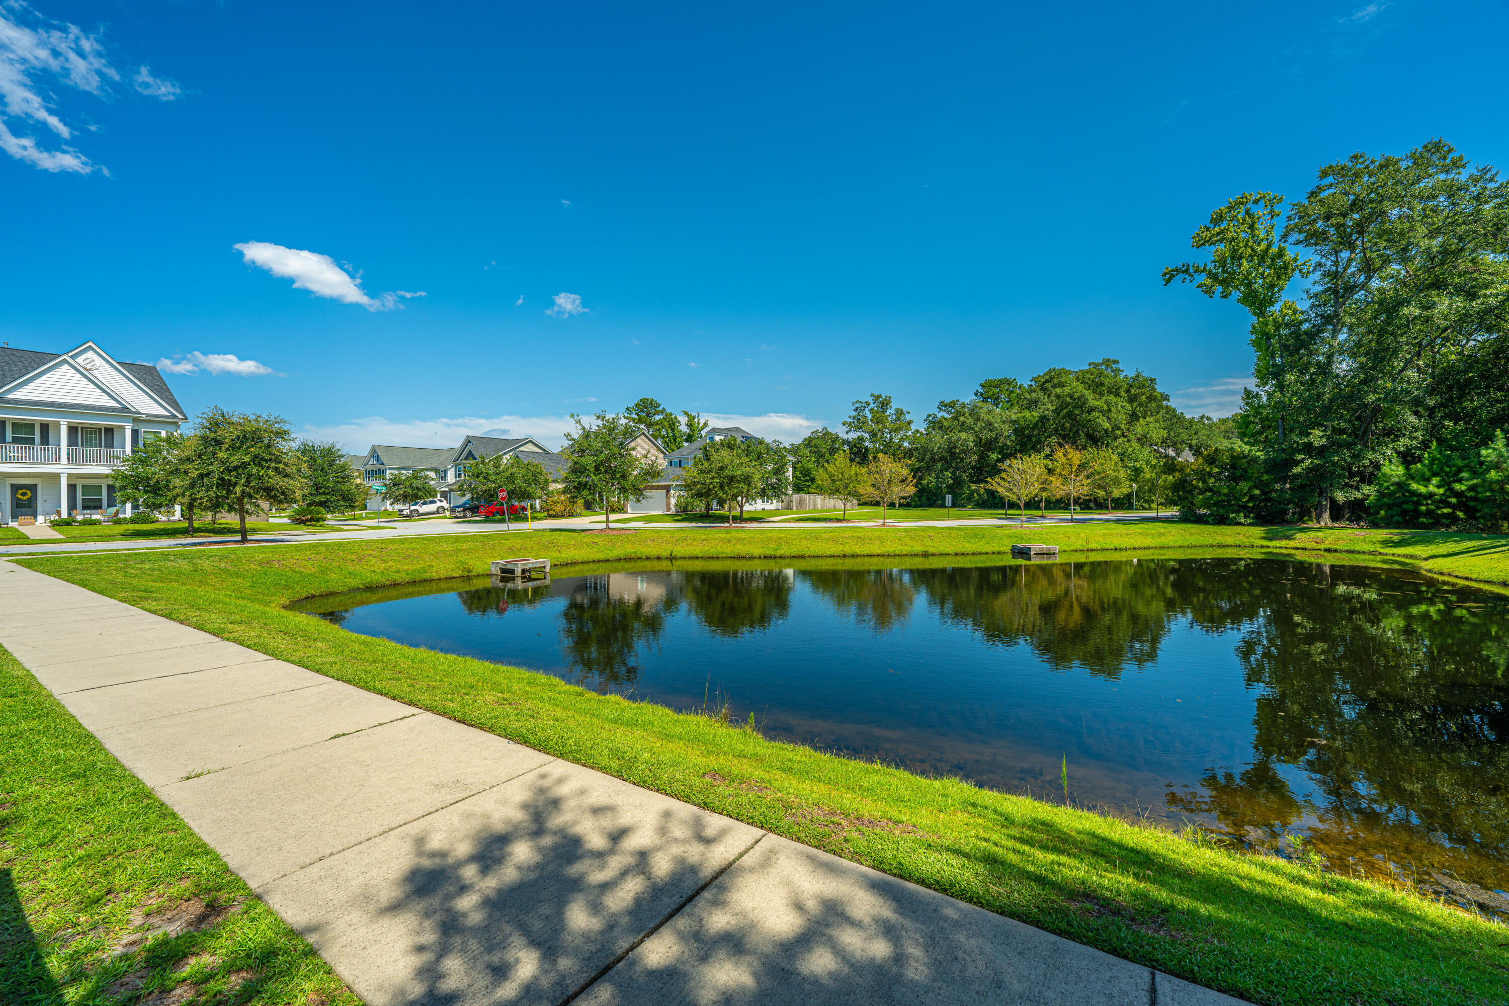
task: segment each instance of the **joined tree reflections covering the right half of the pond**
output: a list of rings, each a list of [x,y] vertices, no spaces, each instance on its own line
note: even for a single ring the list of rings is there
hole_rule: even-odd
[[[1509,885],[1506,605],[1382,570],[1263,560],[1144,560],[911,570],[946,620],[1028,643],[1055,670],[1118,677],[1176,621],[1243,629],[1252,760],[1212,766],[1177,810],[1277,842],[1308,822],[1338,869],[1372,857]],[[1283,768],[1316,786],[1293,792]],[[1255,830],[1255,831],[1254,831]],[[1467,852],[1453,852],[1459,846]],[[1361,861],[1366,858],[1366,861]]]

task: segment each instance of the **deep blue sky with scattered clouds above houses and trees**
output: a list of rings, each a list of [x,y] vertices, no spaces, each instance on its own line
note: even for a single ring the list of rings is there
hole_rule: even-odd
[[[353,449],[641,395],[795,439],[1105,356],[1221,413],[1246,320],[1159,282],[1215,205],[1509,166],[1501,0],[0,18],[0,339]]]

